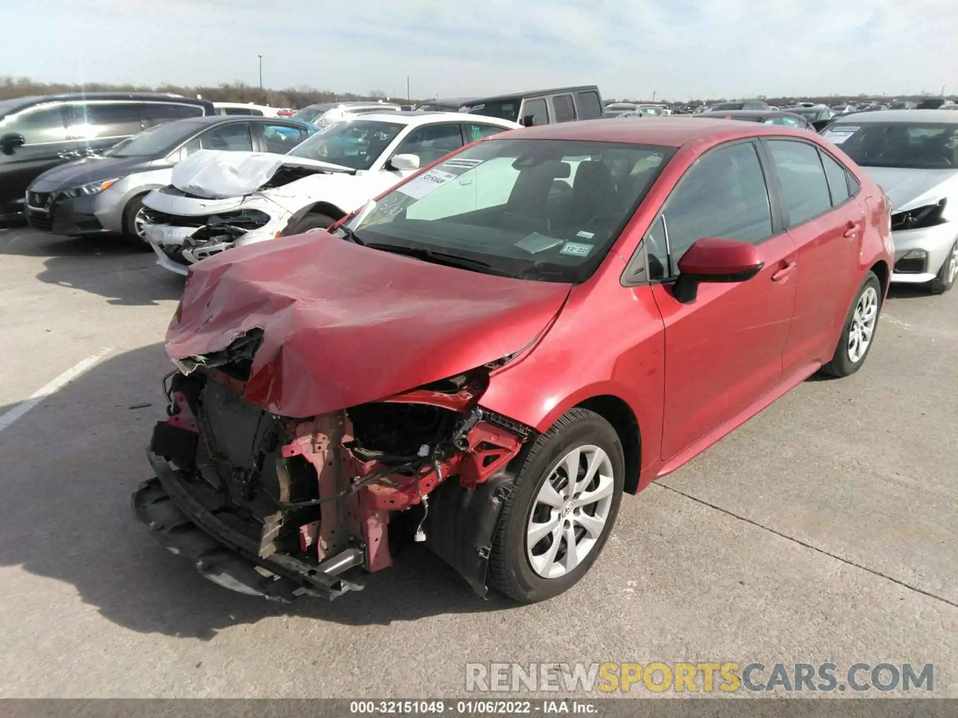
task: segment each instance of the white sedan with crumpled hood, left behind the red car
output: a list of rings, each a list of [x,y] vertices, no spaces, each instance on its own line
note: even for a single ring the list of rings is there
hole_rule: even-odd
[[[389,112],[331,124],[285,155],[200,150],[144,199],[145,235],[157,263],[185,275],[232,247],[329,227],[454,149],[519,126]]]

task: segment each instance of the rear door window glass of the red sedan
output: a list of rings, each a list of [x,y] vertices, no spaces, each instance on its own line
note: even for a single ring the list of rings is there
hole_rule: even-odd
[[[788,226],[832,209],[832,195],[818,149],[804,142],[769,140],[768,149],[782,187]]]

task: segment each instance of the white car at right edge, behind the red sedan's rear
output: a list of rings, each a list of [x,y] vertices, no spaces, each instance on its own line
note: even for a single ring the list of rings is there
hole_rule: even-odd
[[[958,113],[843,115],[822,134],[855,160],[892,205],[892,281],[943,294],[958,279]]]

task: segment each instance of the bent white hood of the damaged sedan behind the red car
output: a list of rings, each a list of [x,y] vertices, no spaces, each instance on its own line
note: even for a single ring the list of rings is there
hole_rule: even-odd
[[[200,149],[173,168],[171,183],[197,197],[226,199],[259,190],[281,167],[355,172],[353,168],[290,155]]]

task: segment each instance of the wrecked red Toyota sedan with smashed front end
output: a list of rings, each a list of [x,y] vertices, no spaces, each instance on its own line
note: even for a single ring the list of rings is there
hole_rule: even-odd
[[[194,266],[135,511],[248,594],[359,589],[415,537],[481,595],[557,595],[624,492],[861,367],[892,254],[884,193],[809,132],[493,136]]]

